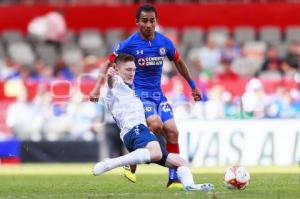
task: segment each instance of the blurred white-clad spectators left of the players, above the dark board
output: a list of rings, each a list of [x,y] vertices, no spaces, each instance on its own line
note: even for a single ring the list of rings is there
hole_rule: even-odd
[[[15,102],[7,107],[5,124],[21,140],[94,140],[104,123],[104,107],[84,100],[73,91],[68,101],[53,101],[40,89],[33,100],[20,84]]]

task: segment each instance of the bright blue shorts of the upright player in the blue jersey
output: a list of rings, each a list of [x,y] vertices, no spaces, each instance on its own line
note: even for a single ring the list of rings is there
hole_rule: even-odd
[[[162,97],[160,100],[153,98],[140,98],[144,105],[146,119],[152,115],[158,115],[162,122],[173,119],[173,110],[168,103],[167,98]]]

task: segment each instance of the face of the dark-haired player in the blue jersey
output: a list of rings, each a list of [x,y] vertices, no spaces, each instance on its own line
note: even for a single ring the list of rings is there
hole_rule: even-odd
[[[141,12],[140,18],[136,21],[136,24],[143,37],[146,39],[152,39],[154,36],[156,22],[154,12]]]

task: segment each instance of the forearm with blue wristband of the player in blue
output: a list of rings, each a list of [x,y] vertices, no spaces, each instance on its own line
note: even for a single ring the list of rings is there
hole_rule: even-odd
[[[178,70],[178,72],[184,77],[184,79],[189,83],[191,89],[192,89],[192,96],[195,101],[202,100],[200,90],[197,88],[194,80],[192,79],[192,76],[187,68],[187,65],[182,60],[182,58],[179,58],[175,62],[175,66]]]

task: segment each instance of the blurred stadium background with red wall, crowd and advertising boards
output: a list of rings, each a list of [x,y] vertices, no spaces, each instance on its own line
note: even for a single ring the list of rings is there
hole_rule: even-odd
[[[88,93],[106,55],[134,31],[135,2],[0,1],[1,164],[109,156],[110,119]],[[183,157],[194,166],[295,164],[300,3],[155,3],[159,31],[176,43],[207,96],[195,104],[176,71],[164,66]],[[67,25],[58,48],[28,32],[32,19],[57,10]]]

